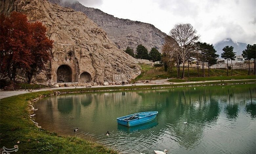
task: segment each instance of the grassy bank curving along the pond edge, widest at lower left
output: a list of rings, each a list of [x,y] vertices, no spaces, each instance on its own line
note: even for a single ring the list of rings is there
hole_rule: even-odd
[[[74,92],[93,92],[104,90],[133,90],[133,89],[150,89],[150,88],[173,88],[173,87],[191,87],[191,86],[208,86],[208,85],[229,85],[245,84],[254,81],[228,81],[212,82],[201,84],[178,84],[178,85],[148,85],[148,86],[124,86],[124,87],[100,87],[100,88],[81,88],[81,89],[60,89],[60,93]],[[58,93],[57,92],[57,93]],[[49,96],[56,93],[55,91],[40,91],[27,93],[0,100],[0,146],[13,148],[15,144],[19,146],[17,153],[117,153],[114,150],[104,146],[85,141],[79,137],[62,137],[56,133],[37,128],[30,120],[28,112],[28,103],[30,100],[40,96]],[[40,125],[40,124],[39,124]],[[17,143],[19,141],[19,144]]]

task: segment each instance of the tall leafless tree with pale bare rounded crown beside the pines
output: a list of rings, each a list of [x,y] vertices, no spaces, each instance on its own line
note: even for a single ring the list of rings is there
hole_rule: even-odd
[[[199,35],[196,34],[196,29],[191,24],[176,24],[171,29],[169,35],[177,42],[174,44],[176,47],[176,53],[179,55],[182,62],[182,78],[184,78],[185,62],[191,57],[191,48],[194,43],[199,39]]]

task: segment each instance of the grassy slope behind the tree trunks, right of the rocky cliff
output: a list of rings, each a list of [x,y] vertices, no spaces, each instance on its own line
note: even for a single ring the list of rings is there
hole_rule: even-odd
[[[164,71],[164,67],[153,67],[151,65],[140,64],[141,74],[137,76],[132,82],[135,83],[139,80],[156,80],[156,79],[166,79],[166,78],[177,78],[176,67],[173,70],[168,70],[167,73]],[[181,70],[182,71],[182,70]],[[185,77],[188,75],[188,69],[185,68]],[[182,73],[182,72],[181,72]],[[210,69],[210,76],[226,76],[226,69]],[[245,69],[234,69],[233,76],[245,76],[248,71]],[[180,74],[181,75],[181,74]],[[202,70],[199,70],[199,75],[202,76]],[[208,75],[208,70],[205,69],[205,75]],[[198,72],[196,68],[189,68],[190,77],[198,77]]]

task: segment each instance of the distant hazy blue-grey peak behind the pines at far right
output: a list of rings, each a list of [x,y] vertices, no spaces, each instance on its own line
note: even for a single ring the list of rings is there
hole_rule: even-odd
[[[219,54],[221,58],[221,53],[223,53],[223,48],[225,46],[233,46],[234,52],[236,52],[236,55],[242,55],[243,50],[246,49],[247,44],[233,41],[231,38],[224,39],[214,45],[215,50],[217,50],[217,54]]]

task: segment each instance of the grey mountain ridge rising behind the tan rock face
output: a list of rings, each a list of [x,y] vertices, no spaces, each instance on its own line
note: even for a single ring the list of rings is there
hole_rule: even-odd
[[[128,19],[119,19],[113,15],[104,13],[99,9],[88,8],[80,4],[78,1],[67,0],[49,0],[51,3],[57,3],[63,7],[69,7],[76,11],[85,13],[99,27],[104,29],[118,48],[126,49],[127,46],[134,48],[139,44],[144,45],[148,50],[155,47],[161,52],[164,43],[165,33],[155,28],[151,24],[131,21]]]

